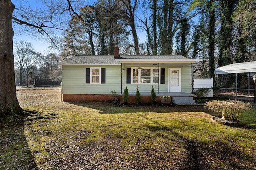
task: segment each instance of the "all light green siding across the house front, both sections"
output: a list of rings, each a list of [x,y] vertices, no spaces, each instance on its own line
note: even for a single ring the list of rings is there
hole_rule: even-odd
[[[129,92],[136,92],[137,86],[140,92],[151,92],[152,86],[156,92],[168,92],[169,68],[181,68],[181,92],[190,93],[191,84],[191,67],[190,66],[160,66],[165,68],[165,84],[127,84],[126,83],[126,68],[138,67],[125,66],[122,72],[120,65],[100,66],[106,68],[106,84],[90,84],[86,83],[86,68],[98,67],[97,65],[88,66],[65,66],[62,65],[62,94],[110,94],[110,91],[116,90],[118,94],[127,86]],[[152,67],[145,66],[145,67]],[[152,67],[153,68],[153,67]],[[155,67],[154,67],[155,68]],[[157,67],[158,68],[158,67]],[[121,83],[122,82],[122,83]]]

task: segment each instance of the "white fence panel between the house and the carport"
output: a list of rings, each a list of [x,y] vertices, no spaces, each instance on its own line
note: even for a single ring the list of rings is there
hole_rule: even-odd
[[[194,79],[194,89],[195,91],[199,88],[208,88],[210,92],[206,97],[213,97],[213,78],[195,78]]]

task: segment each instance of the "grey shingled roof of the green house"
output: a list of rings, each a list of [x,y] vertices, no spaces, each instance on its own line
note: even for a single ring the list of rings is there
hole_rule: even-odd
[[[59,64],[120,64],[118,60],[186,60],[182,55],[121,55],[114,59],[113,55],[76,55],[61,61]]]

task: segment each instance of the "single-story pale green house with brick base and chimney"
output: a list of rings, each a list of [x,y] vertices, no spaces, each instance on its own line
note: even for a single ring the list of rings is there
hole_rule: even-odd
[[[151,101],[152,86],[156,102],[171,96],[175,103],[193,103],[194,64],[202,59],[182,55],[113,55],[74,56],[62,66],[62,101],[108,101],[116,91],[123,102],[127,86],[129,103],[136,103],[138,86],[142,103]],[[141,70],[139,68],[142,68]],[[176,101],[175,101],[176,100]]]

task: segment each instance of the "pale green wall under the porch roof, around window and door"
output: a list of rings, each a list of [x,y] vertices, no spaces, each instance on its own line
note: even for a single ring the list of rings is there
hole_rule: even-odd
[[[134,65],[129,65],[124,67],[123,72],[123,80],[122,80],[122,93],[124,92],[124,88],[127,86],[129,92],[136,92],[137,86],[139,87],[140,92],[151,92],[152,86],[154,87],[155,92],[164,93],[168,92],[168,81],[169,81],[169,68],[181,68],[181,92],[190,93],[190,84],[191,84],[191,67],[190,66],[160,66],[160,68],[165,68],[164,75],[164,84],[127,84],[126,83],[126,68],[138,67]],[[152,67],[143,66],[143,67]],[[153,68],[153,67],[152,67]],[[158,66],[157,66],[158,68]]]

